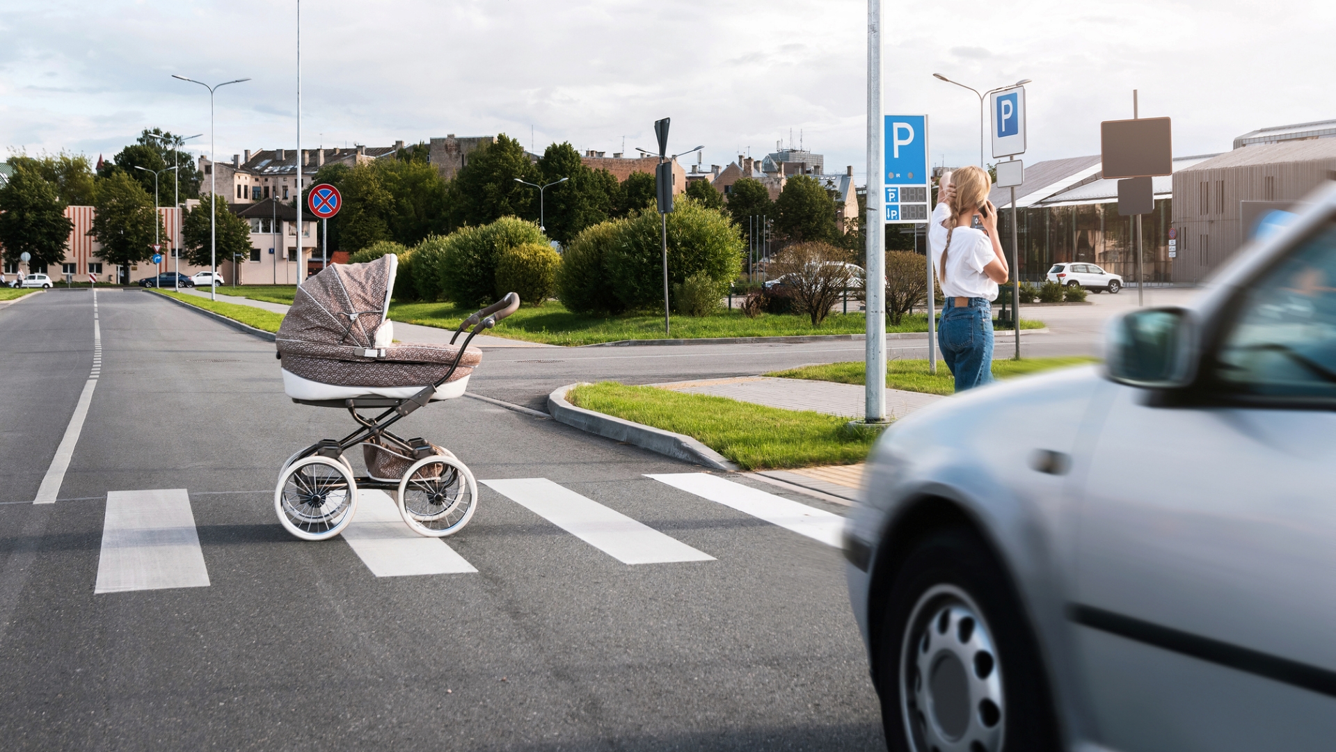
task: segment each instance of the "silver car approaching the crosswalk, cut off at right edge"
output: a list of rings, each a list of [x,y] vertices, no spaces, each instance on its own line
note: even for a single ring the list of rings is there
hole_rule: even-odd
[[[848,588],[891,749],[1336,749],[1336,184],[1104,366],[878,442]]]

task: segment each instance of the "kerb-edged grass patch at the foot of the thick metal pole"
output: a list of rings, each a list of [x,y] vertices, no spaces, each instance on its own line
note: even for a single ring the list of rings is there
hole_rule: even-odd
[[[862,462],[875,439],[844,430],[847,419],[835,415],[655,386],[605,381],[577,386],[566,399],[587,410],[687,434],[747,470]]]

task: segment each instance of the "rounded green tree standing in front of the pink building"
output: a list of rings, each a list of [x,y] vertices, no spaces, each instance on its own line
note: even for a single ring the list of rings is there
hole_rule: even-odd
[[[158,238],[167,235],[154,198],[123,171],[115,171],[99,182],[94,207],[88,234],[102,243],[98,258],[120,264],[128,280],[130,264],[152,255],[155,230]]]

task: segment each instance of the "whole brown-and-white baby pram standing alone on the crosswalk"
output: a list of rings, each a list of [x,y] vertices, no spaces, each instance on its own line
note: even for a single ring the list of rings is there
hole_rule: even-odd
[[[298,538],[339,534],[353,521],[359,489],[394,492],[403,521],[424,536],[457,533],[473,518],[478,488],[468,466],[448,449],[389,427],[429,402],[462,395],[482,362],[469,342],[513,314],[520,297],[509,293],[466,318],[450,345],[394,342],[394,325],[385,317],[397,268],[393,254],[331,264],[297,289],[278,327],[283,390],[293,402],[342,407],[358,423],[346,437],[321,439],[283,463],[274,508]],[[468,338],[454,345],[470,326]],[[367,474],[354,477],[343,453],[357,445]]]

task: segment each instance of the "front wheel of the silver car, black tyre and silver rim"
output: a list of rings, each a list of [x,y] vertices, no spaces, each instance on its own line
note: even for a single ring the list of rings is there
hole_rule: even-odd
[[[931,533],[888,588],[874,660],[891,752],[1059,749],[1038,646],[977,533]]]

